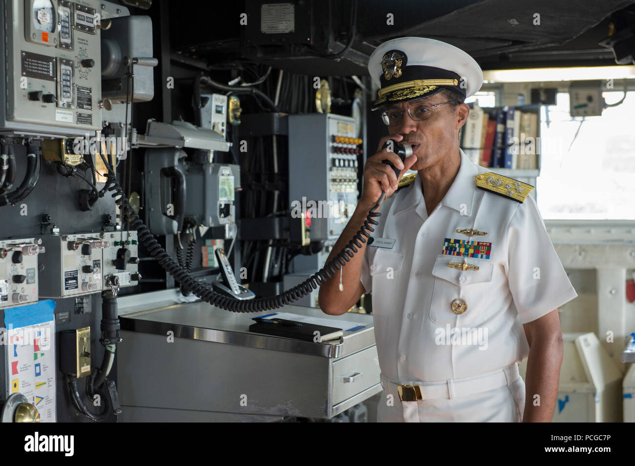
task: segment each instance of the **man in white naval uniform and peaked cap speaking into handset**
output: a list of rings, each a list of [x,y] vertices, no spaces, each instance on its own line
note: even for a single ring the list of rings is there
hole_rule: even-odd
[[[403,37],[368,70],[389,135],[364,166],[358,206],[333,247],[345,248],[382,190],[378,225],[321,286],[326,314],[373,298],[384,388],[379,422],[549,422],[563,343],[558,307],[577,296],[547,235],[533,187],[473,163],[458,146],[464,98],[483,73],[464,51]],[[407,142],[401,163],[388,139]],[[407,170],[398,187],[389,159]],[[528,358],[525,381],[518,362]]]

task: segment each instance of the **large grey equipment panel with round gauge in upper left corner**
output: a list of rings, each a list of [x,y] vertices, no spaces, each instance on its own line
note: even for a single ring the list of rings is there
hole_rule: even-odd
[[[85,135],[101,130],[103,2],[7,0],[2,10],[0,131]]]

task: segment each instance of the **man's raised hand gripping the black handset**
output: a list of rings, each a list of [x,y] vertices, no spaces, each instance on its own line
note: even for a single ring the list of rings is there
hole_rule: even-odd
[[[402,163],[399,156],[392,150],[388,150],[387,147],[382,149],[382,145],[384,145],[384,143],[389,139],[401,141],[403,140],[403,136],[384,136],[379,140],[377,152],[375,152],[373,156],[368,157],[366,160],[366,165],[364,165],[364,188],[362,196],[359,199],[360,203],[368,205],[375,204],[382,195],[382,191],[386,193],[386,199],[391,197],[397,190],[401,176],[403,176],[404,173],[406,173],[406,171],[417,161],[417,156],[413,154],[410,157],[406,157]],[[392,167],[382,162],[382,160],[385,159],[388,159],[392,164],[394,164],[394,166],[401,169],[399,179],[395,176],[395,172],[392,170]]]

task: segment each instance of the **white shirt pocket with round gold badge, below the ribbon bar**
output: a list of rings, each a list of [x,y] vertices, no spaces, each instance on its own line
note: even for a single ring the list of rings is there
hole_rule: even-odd
[[[493,309],[487,305],[491,293],[493,265],[486,259],[465,258],[469,265],[477,265],[478,270],[460,270],[450,267],[450,262],[462,263],[462,256],[440,255],[432,267],[434,288],[430,302],[430,319],[436,324],[462,324],[479,326],[489,317]],[[455,314],[452,302],[462,299],[467,304],[464,314]],[[458,319],[457,319],[458,317]]]

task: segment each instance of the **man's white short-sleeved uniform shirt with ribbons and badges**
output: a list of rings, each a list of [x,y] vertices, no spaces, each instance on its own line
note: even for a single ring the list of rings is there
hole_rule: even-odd
[[[462,150],[460,157],[454,182],[430,216],[417,176],[375,217],[371,236],[386,240],[375,244],[394,244],[367,246],[361,283],[372,291],[380,369],[392,380],[442,381],[523,361],[529,347],[522,324],[577,296],[533,198],[518,203],[479,189],[474,176],[491,170]],[[479,253],[448,253],[460,244],[470,250],[459,240],[481,243],[473,249]],[[479,269],[448,266],[464,259]],[[452,311],[456,298],[467,303],[464,314]],[[471,329],[472,340],[453,340],[466,335],[462,329]]]

